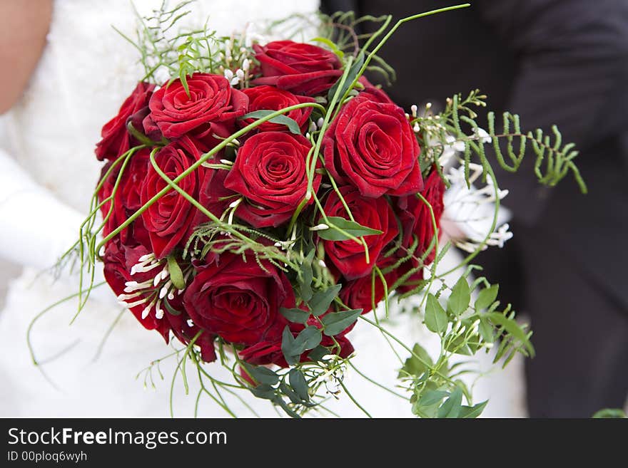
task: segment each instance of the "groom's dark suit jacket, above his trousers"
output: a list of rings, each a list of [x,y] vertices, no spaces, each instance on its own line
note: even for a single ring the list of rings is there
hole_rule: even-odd
[[[397,20],[455,3],[326,0],[323,9]],[[570,176],[540,189],[527,157],[517,175],[498,174],[510,189],[505,204],[628,306],[628,0],[470,3],[401,26],[380,53],[397,71],[388,92],[409,108],[480,88],[491,110],[518,113],[526,129],[557,124],[577,144],[589,194]]]

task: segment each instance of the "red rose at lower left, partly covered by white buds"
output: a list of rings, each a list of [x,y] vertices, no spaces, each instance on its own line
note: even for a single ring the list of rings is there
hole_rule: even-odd
[[[133,265],[138,264],[140,257],[148,253],[148,249],[144,246],[127,246],[122,244],[119,239],[112,239],[110,242],[107,242],[103,258],[103,271],[107,283],[116,295],[119,296],[125,293],[124,288],[126,288],[127,281],[138,281],[141,283],[155,276],[155,271],[140,272],[131,276]],[[136,300],[141,300],[141,297],[138,297]],[[133,303],[133,301],[133,299],[129,299],[128,303]],[[151,308],[145,318],[142,318],[143,311],[147,305],[148,301],[129,309],[144,328],[158,331],[163,336],[163,339],[166,340],[166,343],[168,343],[170,336],[168,320],[163,317],[157,318],[154,307]]]

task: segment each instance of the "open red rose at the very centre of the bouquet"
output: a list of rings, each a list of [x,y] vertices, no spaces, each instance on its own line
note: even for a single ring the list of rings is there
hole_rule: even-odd
[[[288,221],[305,197],[305,158],[312,145],[303,135],[261,132],[238,150],[225,187],[242,194],[236,216],[253,227],[278,227]],[[314,190],[321,175],[314,177]]]

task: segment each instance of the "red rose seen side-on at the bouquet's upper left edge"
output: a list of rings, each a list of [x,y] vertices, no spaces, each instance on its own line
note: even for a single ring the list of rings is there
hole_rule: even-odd
[[[103,126],[101,130],[103,139],[96,144],[98,160],[116,160],[131,148],[131,143],[135,140],[126,130],[126,121],[131,115],[148,105],[154,88],[155,85],[149,83],[138,83],[133,93],[122,104],[118,115]]]

